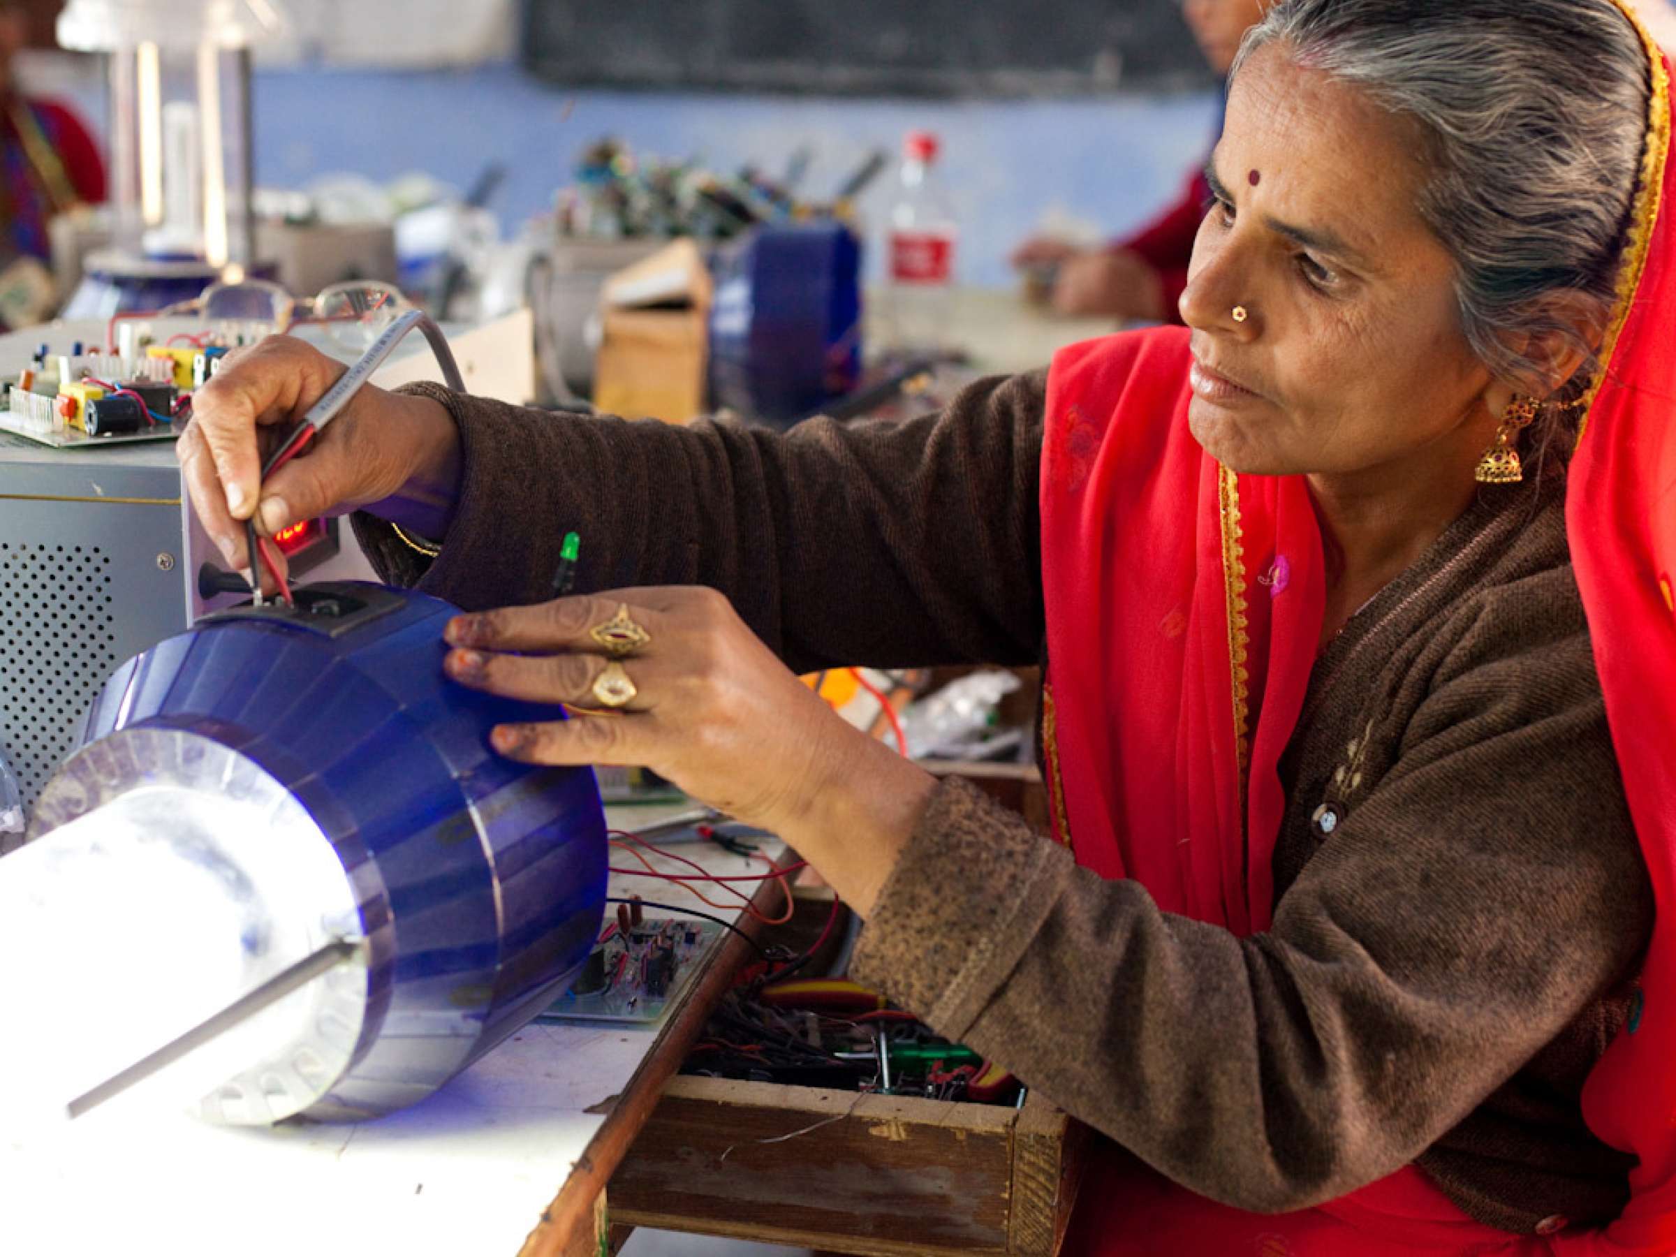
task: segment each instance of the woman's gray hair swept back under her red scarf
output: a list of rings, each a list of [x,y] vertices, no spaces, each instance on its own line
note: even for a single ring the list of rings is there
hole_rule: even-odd
[[[1552,367],[1517,344],[1575,344],[1579,297],[1597,303],[1602,327],[1612,308],[1651,92],[1631,22],[1612,0],[1282,0],[1245,37],[1234,74],[1277,42],[1420,122],[1420,211],[1455,258],[1461,330],[1502,380],[1554,391]],[[1555,402],[1579,397],[1599,369],[1594,347],[1580,347],[1591,365]],[[1550,429],[1562,422],[1544,411]]]

